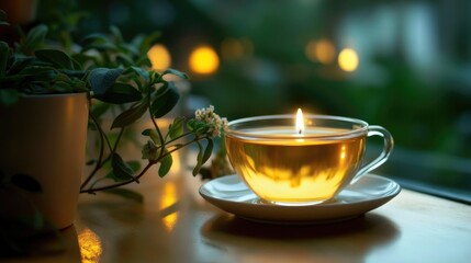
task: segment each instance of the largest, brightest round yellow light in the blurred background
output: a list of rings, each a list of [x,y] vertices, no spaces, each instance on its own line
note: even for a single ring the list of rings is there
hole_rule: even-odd
[[[213,73],[220,67],[220,58],[212,47],[201,46],[191,53],[189,64],[195,73]]]

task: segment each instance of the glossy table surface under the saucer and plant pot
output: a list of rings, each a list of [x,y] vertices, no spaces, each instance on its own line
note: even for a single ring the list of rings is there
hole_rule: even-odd
[[[471,262],[471,206],[402,190],[348,221],[267,225],[205,202],[190,172],[146,174],[139,204],[81,195],[66,250],[4,262]]]

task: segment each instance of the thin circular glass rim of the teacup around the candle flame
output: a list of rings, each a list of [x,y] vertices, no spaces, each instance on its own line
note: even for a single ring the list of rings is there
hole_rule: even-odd
[[[228,122],[227,124],[227,130],[225,132],[228,136],[245,138],[245,139],[270,139],[270,140],[277,140],[277,139],[296,139],[302,137],[303,139],[345,139],[345,138],[355,138],[358,136],[366,136],[368,134],[368,127],[369,124],[362,119],[359,118],[352,118],[352,117],[345,117],[345,116],[335,116],[335,115],[323,115],[323,114],[304,114],[304,119],[323,119],[323,121],[333,121],[333,122],[339,122],[339,123],[350,123],[352,124],[352,128],[350,130],[346,132],[338,132],[338,133],[330,133],[330,134],[303,134],[298,135],[293,133],[292,135],[267,135],[267,134],[255,134],[245,130],[237,130],[234,128],[234,125],[237,124],[245,124],[245,123],[255,123],[260,121],[270,121],[270,119],[293,119],[293,126],[294,126],[294,119],[296,118],[295,114],[277,114],[277,115],[260,115],[260,116],[253,116],[253,117],[244,117],[244,118],[237,118],[234,121]],[[358,127],[356,127],[358,126]],[[328,126],[323,126],[328,127]]]

